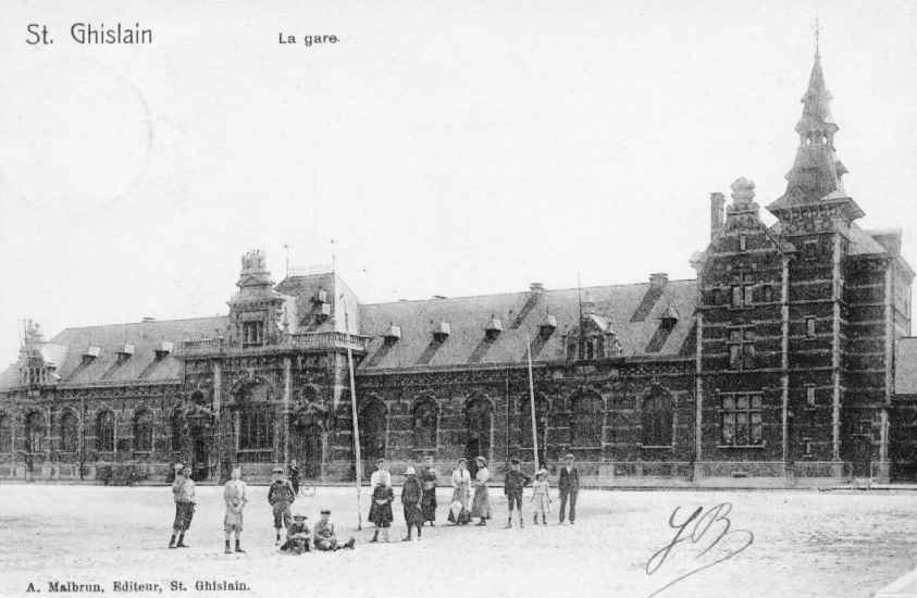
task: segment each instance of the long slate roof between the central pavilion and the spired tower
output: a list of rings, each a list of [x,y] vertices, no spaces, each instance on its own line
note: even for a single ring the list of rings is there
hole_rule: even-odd
[[[696,282],[666,283],[647,316],[631,322],[649,290],[649,283],[582,289],[583,296],[588,296],[594,304],[593,313],[607,321],[608,327],[617,334],[623,357],[647,354],[646,346],[669,306],[673,306],[682,317],[662,348],[653,354],[678,356],[690,332],[691,314],[697,301]],[[533,339],[534,346],[546,313],[556,317],[557,329],[543,346],[537,344],[537,354],[533,359],[563,359],[563,336],[578,325],[579,306],[575,288],[364,304],[361,307],[362,334],[373,340],[360,370],[524,362],[526,336]],[[520,314],[522,317],[518,321]],[[504,323],[504,331],[487,346],[484,328],[493,316]],[[437,346],[433,328],[441,322],[448,322],[451,331]],[[391,324],[401,327],[401,338],[386,344],[382,337]]]

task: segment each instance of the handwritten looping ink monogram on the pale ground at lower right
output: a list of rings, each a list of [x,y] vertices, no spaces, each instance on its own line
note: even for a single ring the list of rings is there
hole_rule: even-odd
[[[720,557],[719,559],[709,562],[707,564],[701,565],[696,569],[692,569],[687,573],[680,575],[666,584],[665,586],[660,587],[656,591],[649,595],[648,598],[658,595],[662,590],[671,587],[672,585],[677,584],[678,582],[684,580],[685,577],[704,571],[705,569],[709,569],[715,564],[721,563],[726,560],[729,560],[749,546],[752,543],[755,541],[755,535],[749,532],[748,530],[733,530],[732,528],[732,521],[729,519],[729,513],[732,512],[732,503],[731,502],[721,502],[707,511],[704,511],[703,507],[697,507],[694,509],[694,512],[687,516],[683,522],[678,522],[677,518],[681,507],[676,507],[672,514],[669,515],[669,527],[676,530],[676,534],[672,537],[671,541],[657,550],[649,557],[649,560],[646,562],[646,574],[653,575],[656,573],[659,568],[666,562],[666,559],[672,552],[672,550],[684,543],[689,543],[691,545],[704,545],[705,538],[709,540],[712,538],[712,541],[709,541],[706,547],[695,555],[696,559],[699,559],[704,555],[710,551],[720,540],[726,538],[727,536],[740,536],[744,539],[744,544],[742,544],[739,548],[728,551],[726,555]],[[693,523],[693,526],[692,526]]]

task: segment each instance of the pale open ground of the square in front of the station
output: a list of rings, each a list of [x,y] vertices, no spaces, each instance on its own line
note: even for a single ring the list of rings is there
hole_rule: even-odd
[[[267,487],[252,487],[246,510],[246,555],[223,555],[221,488],[198,487],[198,509],[187,536],[190,548],[169,550],[174,506],[169,487],[0,486],[0,596],[32,596],[29,583],[48,595],[48,582],[157,583],[171,581],[195,596],[197,581],[236,581],[249,593],[206,596],[396,596],[490,598],[510,596],[648,597],[692,569],[739,550],[662,590],[659,596],[871,596],[915,568],[912,548],[917,494],[907,491],[599,491],[580,495],[575,525],[505,530],[506,503],[492,488],[495,518],[486,527],[443,525],[448,491],[439,495],[439,525],[423,539],[402,543],[396,503],[392,544],[367,544],[372,526],[358,532],[352,487],[320,487],[294,511],[314,523],[332,510],[342,536],[357,537],[354,551],[292,557],[273,546]],[[526,495],[528,499],[528,495]],[[368,497],[363,494],[363,511]],[[676,523],[698,507],[731,503],[730,531],[716,512],[692,523],[648,575],[646,564],[671,543]],[[706,510],[704,512],[707,512]],[[699,519],[699,518],[698,518]],[[696,523],[696,521],[695,521]],[[705,526],[706,533],[704,533]],[[740,531],[741,530],[741,531]],[[693,533],[693,538],[692,538]],[[692,543],[696,539],[696,543]],[[53,594],[63,596],[63,594]],[[82,593],[79,596],[94,596]],[[125,594],[116,594],[124,596]]]

